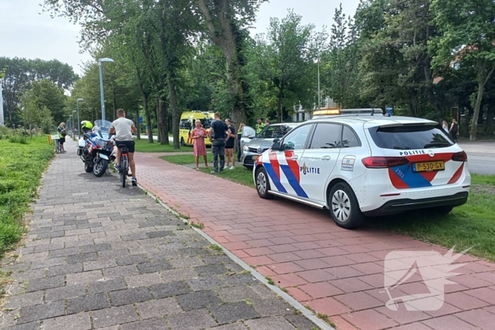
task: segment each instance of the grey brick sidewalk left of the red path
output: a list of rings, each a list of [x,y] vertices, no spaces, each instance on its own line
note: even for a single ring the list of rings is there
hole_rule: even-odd
[[[0,329],[317,329],[141,189],[84,172],[67,142],[1,269]]]

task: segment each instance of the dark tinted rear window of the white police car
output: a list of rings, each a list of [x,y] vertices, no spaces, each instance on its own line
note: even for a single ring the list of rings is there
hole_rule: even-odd
[[[371,138],[378,148],[417,150],[446,148],[454,142],[440,125],[385,126],[370,129]]]

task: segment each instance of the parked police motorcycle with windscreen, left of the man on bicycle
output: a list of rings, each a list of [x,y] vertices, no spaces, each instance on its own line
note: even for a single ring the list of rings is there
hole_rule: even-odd
[[[96,177],[105,174],[108,164],[115,160],[115,136],[110,136],[111,122],[96,120],[91,131],[83,131],[84,138],[78,141],[77,154],[84,163],[84,170]]]

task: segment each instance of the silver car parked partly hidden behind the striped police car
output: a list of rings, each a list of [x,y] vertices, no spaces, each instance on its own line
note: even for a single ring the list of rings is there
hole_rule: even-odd
[[[297,123],[271,124],[264,126],[264,129],[257,136],[250,136],[250,141],[241,145],[243,148],[243,166],[252,169],[258,156],[272,146],[274,139],[281,139],[297,125]]]

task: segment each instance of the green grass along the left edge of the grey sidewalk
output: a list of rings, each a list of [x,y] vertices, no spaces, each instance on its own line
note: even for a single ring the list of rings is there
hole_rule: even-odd
[[[53,154],[46,136],[25,144],[0,140],[0,256],[21,238],[21,220]]]

